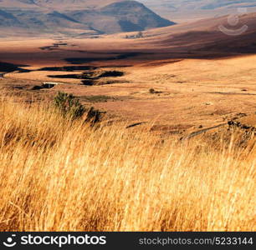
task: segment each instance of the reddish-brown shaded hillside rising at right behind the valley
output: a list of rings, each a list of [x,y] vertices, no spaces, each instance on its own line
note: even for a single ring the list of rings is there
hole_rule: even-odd
[[[230,33],[222,32],[220,27],[227,28]],[[241,30],[243,32],[240,32]],[[144,35],[145,41],[154,46],[168,47],[170,52],[186,52],[187,57],[194,57],[214,53],[218,56],[255,53],[255,31],[256,13],[244,13],[239,16],[236,26],[228,23],[226,15],[181,23],[173,27],[151,29],[144,32]]]

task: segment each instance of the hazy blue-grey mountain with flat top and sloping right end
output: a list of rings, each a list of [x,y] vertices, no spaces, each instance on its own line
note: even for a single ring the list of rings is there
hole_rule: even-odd
[[[143,31],[175,23],[131,0],[0,0],[0,35],[103,34]]]

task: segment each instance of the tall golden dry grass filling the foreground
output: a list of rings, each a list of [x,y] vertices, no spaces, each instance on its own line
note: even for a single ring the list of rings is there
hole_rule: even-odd
[[[1,231],[251,231],[256,148],[90,128],[0,101]]]

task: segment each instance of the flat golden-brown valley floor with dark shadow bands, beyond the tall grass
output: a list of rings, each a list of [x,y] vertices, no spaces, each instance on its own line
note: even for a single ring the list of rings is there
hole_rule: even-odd
[[[72,92],[82,102],[105,110],[111,119],[154,121],[156,126],[186,131],[255,112],[254,55],[160,59],[163,55],[158,50],[129,52],[128,42],[126,52],[111,52],[114,48],[106,49],[111,39],[95,40],[60,41],[65,45],[46,51],[40,47],[58,40],[22,42],[23,48],[18,42],[0,42],[1,61],[23,69],[5,73],[0,87],[26,93],[28,98]],[[116,50],[124,45],[122,39],[118,41]],[[135,43],[135,48],[140,46]],[[13,47],[12,52],[8,47]],[[35,86],[43,82],[64,84],[38,90]]]

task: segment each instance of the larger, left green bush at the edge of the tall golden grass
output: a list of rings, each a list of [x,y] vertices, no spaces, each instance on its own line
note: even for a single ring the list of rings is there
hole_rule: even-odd
[[[86,111],[79,99],[66,92],[58,92],[57,96],[54,97],[54,106],[64,117],[70,117],[72,120],[82,117]]]

